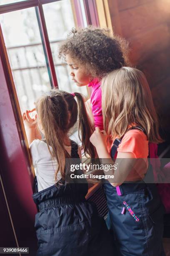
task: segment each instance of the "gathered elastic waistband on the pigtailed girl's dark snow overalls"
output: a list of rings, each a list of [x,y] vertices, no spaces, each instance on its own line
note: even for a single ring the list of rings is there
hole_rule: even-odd
[[[49,209],[52,207],[70,205],[77,202],[84,202],[86,199],[84,196],[79,197],[56,197],[40,202],[37,206],[40,211]]]

